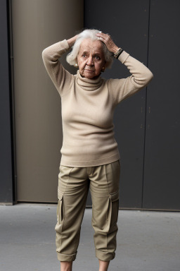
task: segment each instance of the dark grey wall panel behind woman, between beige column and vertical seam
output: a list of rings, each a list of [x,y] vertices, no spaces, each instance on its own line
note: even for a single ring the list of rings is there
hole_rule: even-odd
[[[148,0],[93,0],[85,1],[84,8],[85,27],[110,33],[117,46],[147,64]],[[105,78],[127,76],[127,68],[119,61],[115,61],[113,68],[104,74]],[[146,89],[123,101],[115,111],[115,138],[122,165],[120,207],[142,207],[145,117]]]

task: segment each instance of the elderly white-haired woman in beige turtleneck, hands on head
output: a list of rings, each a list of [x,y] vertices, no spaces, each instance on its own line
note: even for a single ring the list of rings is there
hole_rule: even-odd
[[[77,74],[63,68],[67,56]],[[153,74],[141,62],[117,47],[98,30],[79,35],[44,49],[43,60],[61,97],[63,146],[58,176],[56,246],[60,270],[72,270],[79,245],[86,198],[91,191],[92,226],[99,270],[108,270],[115,258],[120,179],[120,154],[113,131],[115,107],[144,88]],[[128,78],[101,78],[113,59],[127,66]]]

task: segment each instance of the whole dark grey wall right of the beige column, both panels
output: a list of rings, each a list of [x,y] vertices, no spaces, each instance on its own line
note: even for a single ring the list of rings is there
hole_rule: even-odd
[[[148,88],[115,112],[122,208],[180,210],[179,8],[176,0],[84,1],[84,26],[109,32],[154,74]],[[128,74],[115,61],[104,76]]]

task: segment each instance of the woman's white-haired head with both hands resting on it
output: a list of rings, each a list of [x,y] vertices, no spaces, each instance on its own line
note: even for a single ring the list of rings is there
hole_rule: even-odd
[[[113,63],[113,54],[118,47],[108,34],[98,30],[87,29],[68,40],[72,52],[68,54],[70,65],[79,67],[82,76],[95,79]]]

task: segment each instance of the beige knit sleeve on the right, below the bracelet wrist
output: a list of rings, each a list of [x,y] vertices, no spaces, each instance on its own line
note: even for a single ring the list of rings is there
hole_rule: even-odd
[[[153,73],[140,61],[129,56],[127,52],[122,52],[119,60],[122,64],[127,66],[131,76],[122,79],[108,80],[108,90],[110,94],[113,95],[117,104],[146,87],[153,78]]]

